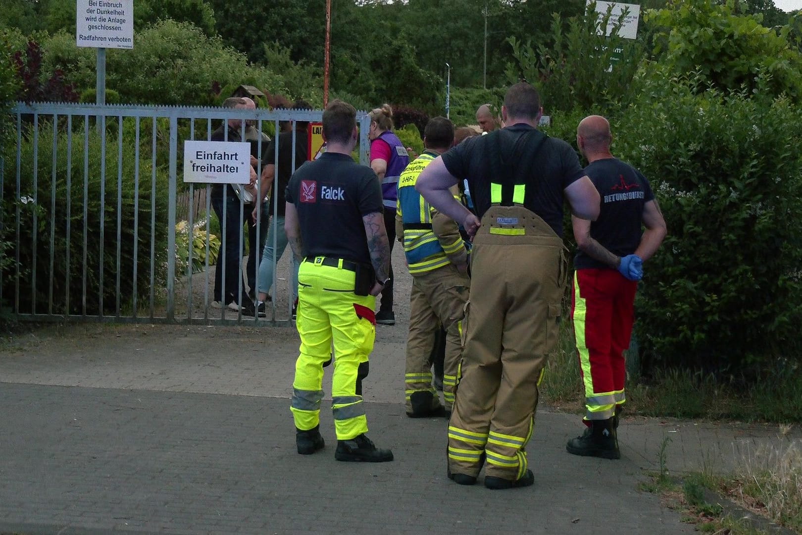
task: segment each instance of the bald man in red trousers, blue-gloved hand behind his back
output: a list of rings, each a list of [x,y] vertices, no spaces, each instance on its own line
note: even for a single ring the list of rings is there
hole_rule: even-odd
[[[591,223],[573,217],[573,330],[585,385],[585,433],[569,440],[569,453],[618,459],[618,414],[626,397],[624,350],[630,347],[635,290],[642,264],[666,237],[666,221],[649,181],[610,152],[610,124],[589,116],[577,128],[585,173],[602,197]],[[642,232],[642,226],[646,230]]]

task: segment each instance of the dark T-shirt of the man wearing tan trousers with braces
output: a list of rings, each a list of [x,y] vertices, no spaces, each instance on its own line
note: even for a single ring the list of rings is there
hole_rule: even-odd
[[[443,155],[448,172],[458,180],[468,180],[478,217],[482,217],[490,208],[490,183],[498,183],[496,176],[501,172],[491,164],[488,144],[495,143],[496,136],[501,136],[501,160],[512,160],[518,138],[533,130],[535,128],[528,124],[513,124],[487,136],[464,140]],[[544,137],[542,132],[536,132],[529,139],[529,147],[523,148],[520,153],[525,155],[531,152]],[[563,140],[546,138],[537,150],[536,164],[529,170],[526,183],[529,202],[525,203],[525,207],[542,217],[557,236],[562,236],[563,190],[585,176],[585,172],[579,164],[577,153]],[[533,188],[533,191],[529,192],[529,188]]]

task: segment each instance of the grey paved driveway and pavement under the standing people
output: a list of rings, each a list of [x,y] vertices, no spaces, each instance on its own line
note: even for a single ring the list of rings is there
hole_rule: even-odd
[[[692,533],[638,491],[665,437],[672,472],[726,471],[780,440],[772,426],[633,417],[622,460],[574,457],[579,416],[541,403],[533,487],[453,484],[445,420],[403,413],[408,283],[365,383],[386,464],[336,462],[328,410],[326,448],[295,452],[291,328],[52,326],[5,343],[0,533]]]

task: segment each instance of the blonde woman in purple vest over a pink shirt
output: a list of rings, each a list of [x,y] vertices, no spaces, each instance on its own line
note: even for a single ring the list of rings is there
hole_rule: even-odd
[[[384,226],[390,238],[392,252],[395,242],[395,204],[398,199],[399,177],[407,164],[409,155],[398,136],[393,132],[393,110],[389,104],[383,104],[371,111],[371,129],[368,138],[371,140],[371,168],[379,176],[382,184],[384,202]],[[382,290],[382,299],[376,322],[383,325],[395,325],[393,311],[393,268],[390,266],[390,281]]]

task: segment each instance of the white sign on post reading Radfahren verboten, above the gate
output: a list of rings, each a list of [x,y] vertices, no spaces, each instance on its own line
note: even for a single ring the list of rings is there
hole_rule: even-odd
[[[75,42],[79,47],[133,48],[134,0],[77,0]]]

